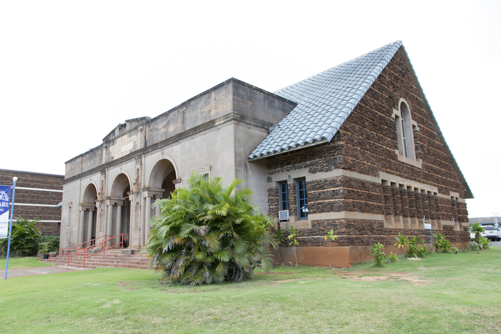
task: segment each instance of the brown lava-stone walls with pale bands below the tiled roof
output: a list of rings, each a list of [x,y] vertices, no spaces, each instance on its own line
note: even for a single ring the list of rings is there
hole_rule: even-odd
[[[393,236],[398,232],[418,235],[429,243],[423,215],[431,220],[433,233],[445,232],[458,246],[469,241],[463,184],[428,116],[405,57],[400,49],[330,143],[267,158],[269,213],[278,222],[278,182],[288,180],[292,217],[281,227],[300,228],[300,245],[310,246],[300,247],[302,263],[327,265],[327,250],[311,246],[328,246],[323,235],[331,229],[339,235],[332,246],[347,247],[338,250],[344,254],[336,260],[339,266],[371,259],[369,247],[378,241],[388,252],[395,252]],[[399,161],[395,153],[397,132],[392,114],[401,98],[417,123],[414,142],[421,168]],[[307,181],[307,222],[297,219],[294,179],[301,177]],[[388,181],[386,187],[382,180]],[[394,189],[390,182],[395,182]],[[291,260],[291,254],[294,259],[286,249],[277,255]]]

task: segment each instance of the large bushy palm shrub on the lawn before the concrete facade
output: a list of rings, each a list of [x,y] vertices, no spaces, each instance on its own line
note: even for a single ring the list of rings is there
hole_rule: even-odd
[[[150,267],[167,282],[238,282],[252,277],[255,262],[270,269],[269,246],[277,247],[272,220],[257,213],[252,191],[235,189],[240,182],[223,186],[221,178],[193,173],[186,188],[154,203],[160,214],[149,221],[145,248]]]

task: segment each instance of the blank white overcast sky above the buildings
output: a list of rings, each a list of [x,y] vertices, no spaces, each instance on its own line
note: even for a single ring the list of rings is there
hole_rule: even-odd
[[[119,123],[231,77],[274,92],[402,40],[469,216],[501,211],[499,2],[171,3],[1,2],[0,168],[64,174]]]

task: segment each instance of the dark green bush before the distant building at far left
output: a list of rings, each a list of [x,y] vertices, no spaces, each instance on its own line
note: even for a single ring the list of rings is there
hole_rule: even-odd
[[[38,220],[28,220],[21,216],[12,224],[11,251],[12,255],[35,256],[38,253],[38,245],[41,235],[35,224]],[[8,240],[0,241],[2,253],[7,254]]]

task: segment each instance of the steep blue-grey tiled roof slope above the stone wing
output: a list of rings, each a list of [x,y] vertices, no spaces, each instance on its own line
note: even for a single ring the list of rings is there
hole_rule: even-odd
[[[401,46],[401,41],[385,45],[275,92],[298,105],[248,159],[330,141]]]

